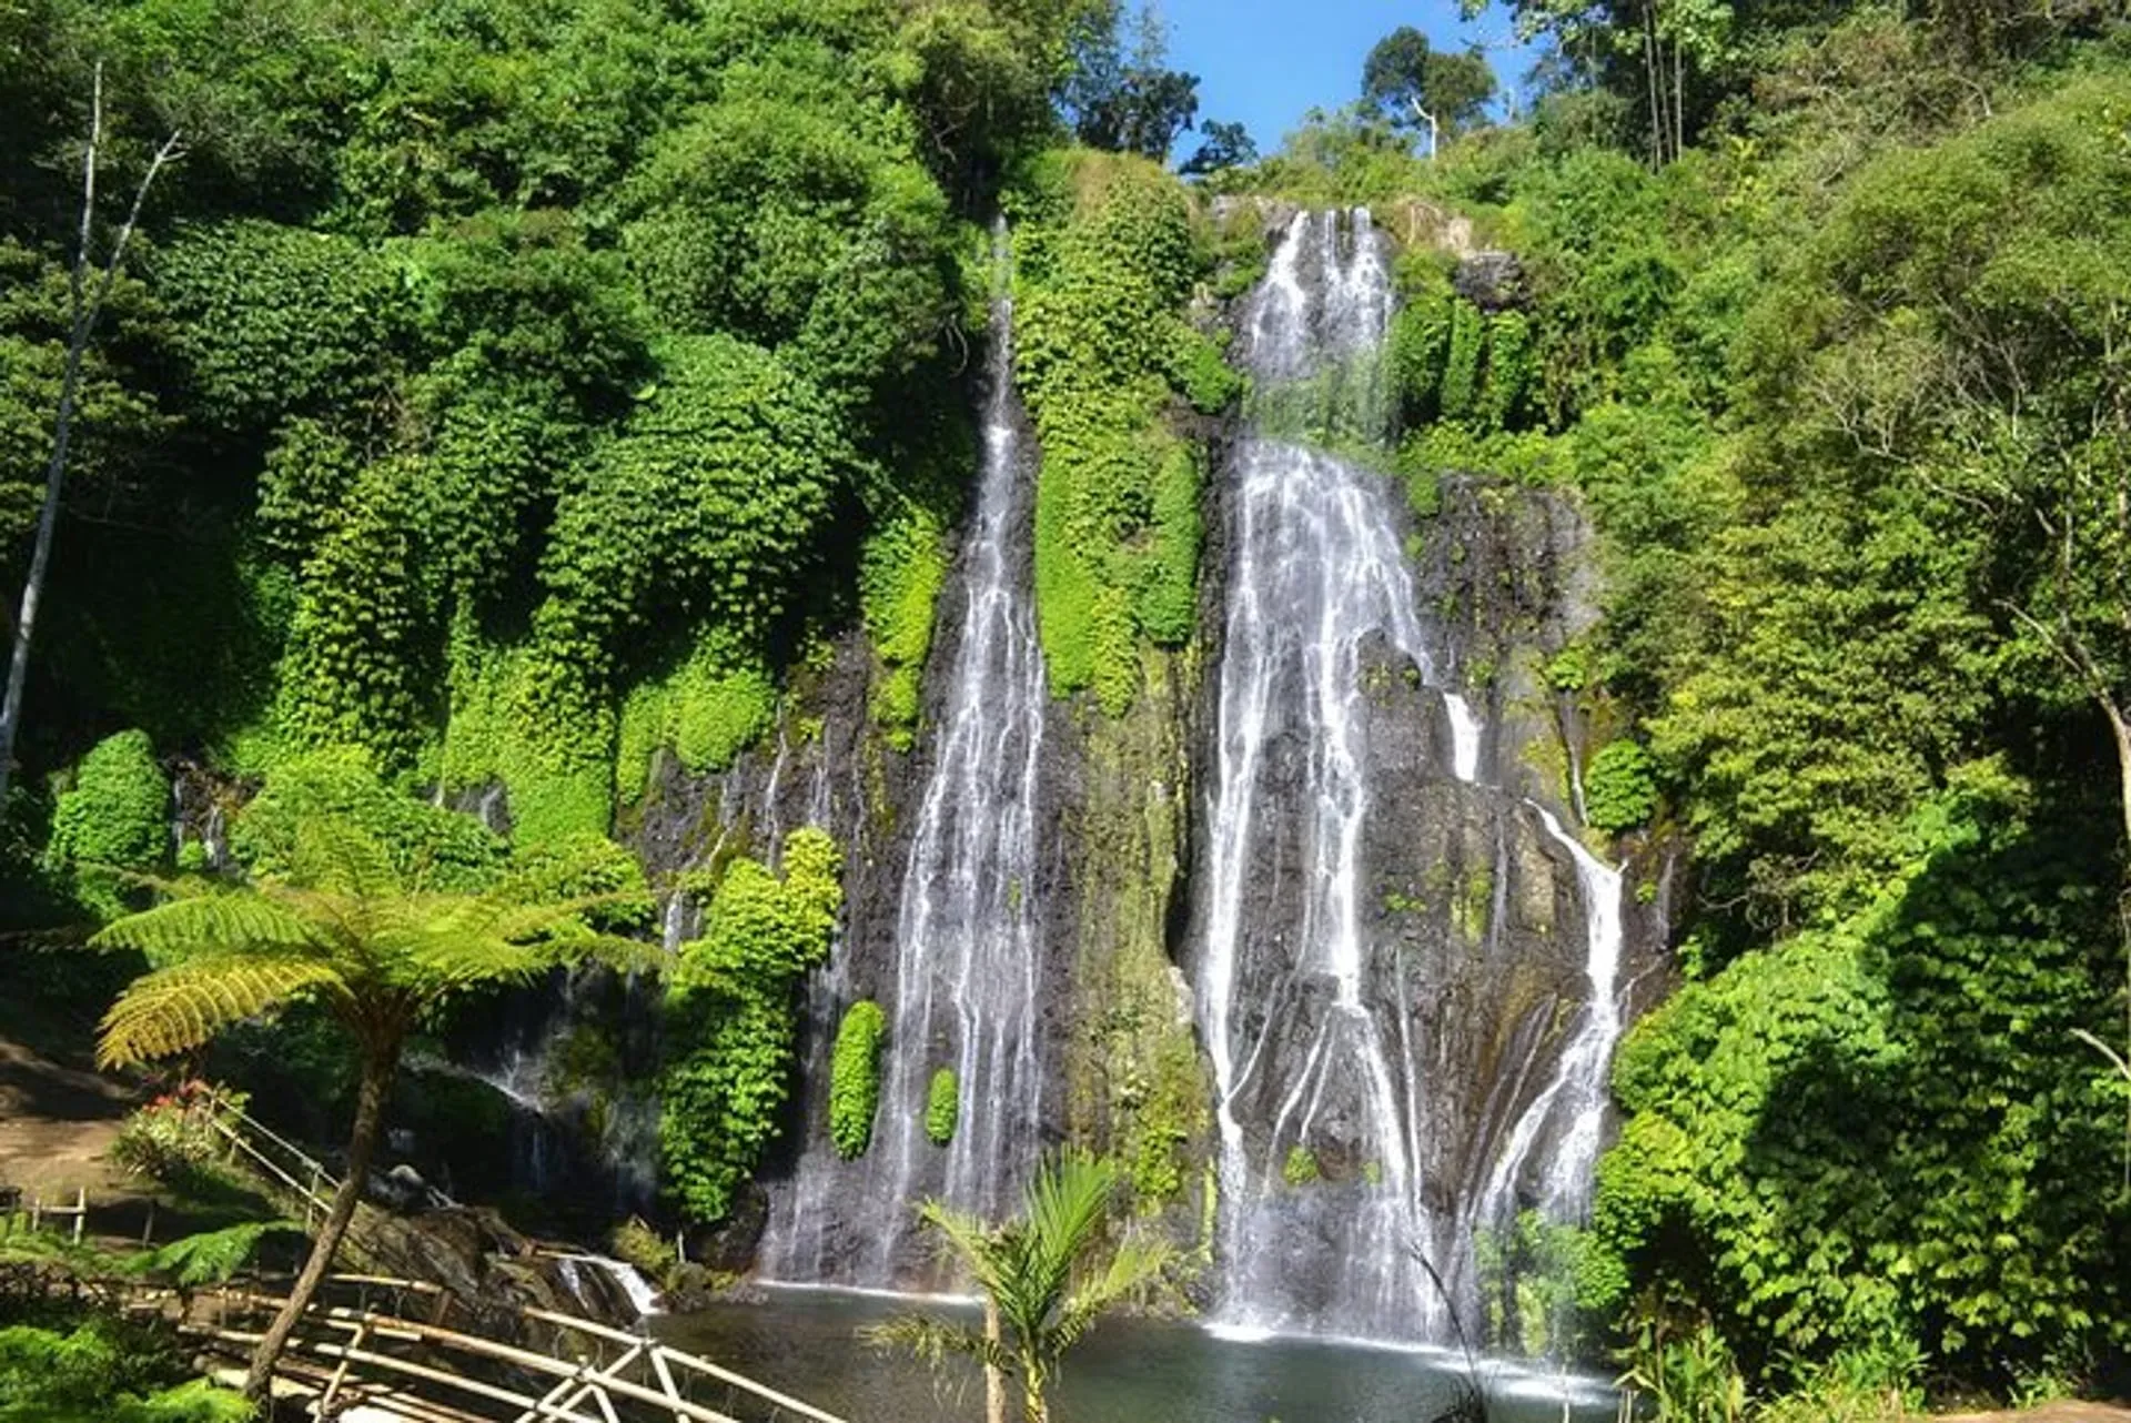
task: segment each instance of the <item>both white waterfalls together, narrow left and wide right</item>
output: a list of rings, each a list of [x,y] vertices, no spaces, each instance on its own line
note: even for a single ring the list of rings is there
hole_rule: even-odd
[[[1624,1025],[1620,871],[1532,799],[1560,788],[1532,771],[1530,737],[1460,694],[1466,654],[1434,622],[1396,484],[1330,449],[1368,460],[1392,435],[1392,315],[1368,215],[1302,213],[1238,324],[1253,403],[1217,473],[1225,569],[1208,577],[1225,607],[1206,628],[1170,944],[1217,1127],[1208,1316],[1234,1329],[1447,1338],[1451,1302],[1477,1295],[1481,1231],[1583,1208]],[[950,1285],[916,1204],[1004,1214],[1063,1135],[1053,1020],[1070,1018],[1055,984],[1072,969],[1046,925],[1076,910],[1055,888],[1068,792],[1044,767],[1076,729],[1036,637],[1036,452],[1010,330],[1002,292],[921,788],[891,841],[893,944],[876,935],[863,982],[840,952],[814,986],[816,1040],[859,997],[889,1014],[874,1144],[840,1161],[810,1131],[771,1191],[767,1278]],[[925,1133],[942,1067],[948,1146]]]

